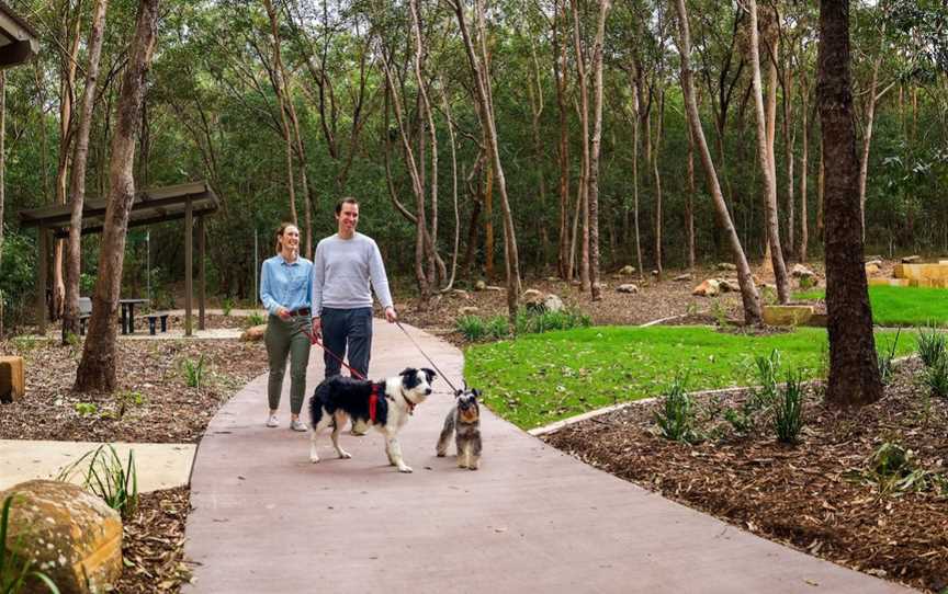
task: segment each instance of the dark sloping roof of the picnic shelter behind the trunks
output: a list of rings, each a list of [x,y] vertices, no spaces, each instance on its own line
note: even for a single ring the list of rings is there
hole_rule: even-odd
[[[191,202],[193,216],[203,216],[219,208],[214,191],[204,181],[189,182],[163,187],[149,187],[138,192],[132,203],[128,227],[155,225],[167,220],[184,218],[188,202]],[[105,220],[108,201],[86,199],[82,205],[82,233],[99,233]],[[57,204],[32,210],[20,212],[21,227],[44,227],[54,229],[56,236],[69,232],[70,205]]]

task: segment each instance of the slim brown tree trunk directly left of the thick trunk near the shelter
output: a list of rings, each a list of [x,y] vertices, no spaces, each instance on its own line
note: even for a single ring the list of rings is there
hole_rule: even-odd
[[[105,30],[105,11],[109,0],[98,0],[89,33],[89,66],[86,70],[86,90],[79,130],[76,136],[76,153],[72,156],[72,179],[69,187],[69,241],[66,249],[66,308],[63,316],[63,344],[69,335],[79,334],[79,274],[82,256],[82,205],[86,201],[86,164],[89,160],[89,135],[92,130],[92,112],[95,107],[95,84],[99,79],[99,61],[102,56],[102,38]]]

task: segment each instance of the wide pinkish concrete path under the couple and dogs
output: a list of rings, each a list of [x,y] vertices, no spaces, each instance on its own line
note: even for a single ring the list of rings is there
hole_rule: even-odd
[[[373,377],[424,366],[396,327],[375,332]],[[462,354],[411,332],[456,384]],[[263,426],[266,382],[236,395],[198,449],[188,592],[907,592],[596,470],[489,412],[481,470],[458,469],[435,456],[452,402],[443,381],[402,434],[414,473],[387,466],[374,432],[343,434],[351,460],[334,458],[326,436],[311,465],[307,435],[286,429],[286,395],[283,426]]]

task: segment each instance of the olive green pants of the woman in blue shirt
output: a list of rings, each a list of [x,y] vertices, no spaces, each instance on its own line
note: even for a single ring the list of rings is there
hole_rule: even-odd
[[[286,372],[286,357],[290,357],[290,412],[300,414],[306,396],[306,365],[309,363],[309,338],[313,329],[309,316],[294,316],[282,320],[270,316],[267,320],[267,356],[270,359],[270,380],[267,382],[267,398],[270,410],[280,408],[280,392],[283,389],[283,375]]]

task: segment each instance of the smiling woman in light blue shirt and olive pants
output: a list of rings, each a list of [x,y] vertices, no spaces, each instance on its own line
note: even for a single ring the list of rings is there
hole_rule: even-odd
[[[313,263],[300,256],[300,229],[284,222],[276,231],[276,255],[263,262],[260,273],[260,300],[270,312],[267,320],[267,355],[270,359],[270,380],[267,397],[270,400],[268,427],[280,426],[276,410],[286,357],[290,356],[290,429],[306,431],[300,420],[306,391],[306,365],[309,362],[309,338],[312,325]]]

